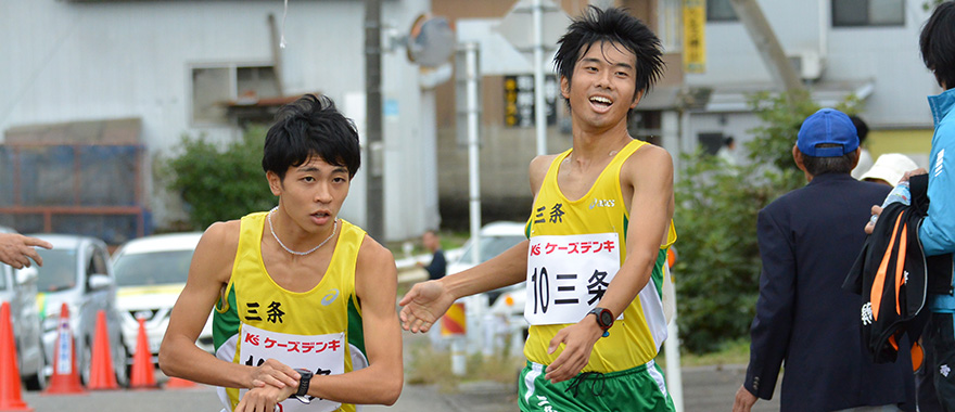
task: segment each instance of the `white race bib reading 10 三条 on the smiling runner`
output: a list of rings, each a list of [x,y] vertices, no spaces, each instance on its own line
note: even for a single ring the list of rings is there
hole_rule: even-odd
[[[619,270],[616,233],[531,237],[524,318],[532,325],[580,322]]]

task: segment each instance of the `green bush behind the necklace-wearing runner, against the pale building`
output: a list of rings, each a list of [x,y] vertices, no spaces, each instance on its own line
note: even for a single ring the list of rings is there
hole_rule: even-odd
[[[265,132],[264,127],[251,127],[224,147],[203,136],[183,136],[175,150],[179,155],[163,162],[167,189],[182,196],[192,229],[275,206],[262,170]]]

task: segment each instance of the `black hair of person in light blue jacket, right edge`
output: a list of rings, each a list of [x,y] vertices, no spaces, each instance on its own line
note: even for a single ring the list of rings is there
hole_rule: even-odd
[[[921,60],[945,89],[955,88],[955,2],[939,4],[918,38]]]

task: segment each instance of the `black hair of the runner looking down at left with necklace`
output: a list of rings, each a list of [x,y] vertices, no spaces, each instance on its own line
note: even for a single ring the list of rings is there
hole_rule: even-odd
[[[276,114],[276,124],[265,137],[262,168],[284,179],[289,167],[302,166],[313,156],[344,166],[348,179],[361,166],[355,123],[342,115],[328,96],[305,94]]]

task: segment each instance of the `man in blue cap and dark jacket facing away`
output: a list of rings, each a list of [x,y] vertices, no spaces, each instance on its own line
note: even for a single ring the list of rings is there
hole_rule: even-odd
[[[915,410],[911,360],[873,363],[860,338],[862,297],[841,287],[865,242],[868,207],[889,193],[852,178],[858,155],[849,116],[816,112],[792,147],[808,184],[760,210],[760,297],[734,412],[771,399],[784,362],[781,412]]]

